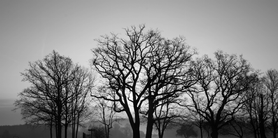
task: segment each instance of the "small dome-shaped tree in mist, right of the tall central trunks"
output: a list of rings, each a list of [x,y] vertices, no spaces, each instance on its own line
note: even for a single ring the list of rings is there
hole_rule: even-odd
[[[197,137],[198,133],[195,128],[192,127],[192,124],[183,124],[176,132],[176,136],[181,136],[185,138]]]

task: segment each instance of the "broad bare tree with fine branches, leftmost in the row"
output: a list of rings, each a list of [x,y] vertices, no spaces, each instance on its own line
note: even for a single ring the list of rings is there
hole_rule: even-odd
[[[43,60],[29,62],[29,67],[21,73],[21,76],[23,76],[22,81],[28,81],[32,85],[19,93],[20,98],[14,103],[15,109],[23,109],[21,114],[26,121],[37,118],[46,122],[43,118],[50,119],[48,125],[52,130],[54,122],[57,138],[62,137],[62,126],[65,126],[65,137],[67,137],[67,127],[72,122],[70,106],[76,95],[76,91],[71,89],[72,82],[80,77],[77,75],[81,67],[73,64],[69,57],[61,56],[55,51],[45,56]],[[88,85],[78,87],[91,89]],[[34,114],[28,113],[28,107]]]

